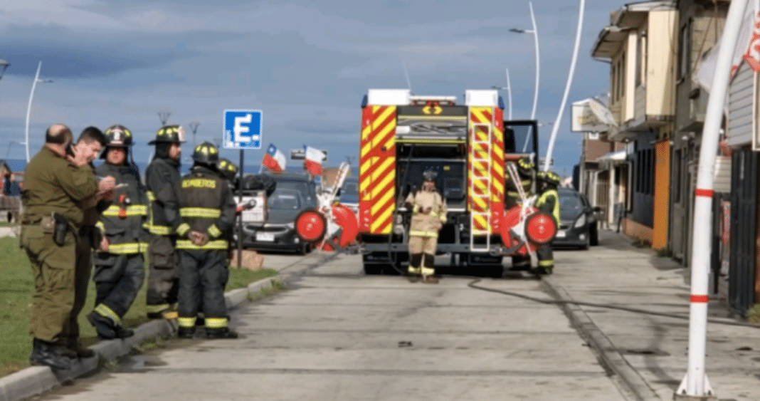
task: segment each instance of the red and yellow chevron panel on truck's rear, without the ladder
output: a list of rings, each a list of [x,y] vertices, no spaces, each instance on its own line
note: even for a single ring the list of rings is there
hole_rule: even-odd
[[[359,148],[359,232],[391,234],[396,193],[395,106],[364,107]]]

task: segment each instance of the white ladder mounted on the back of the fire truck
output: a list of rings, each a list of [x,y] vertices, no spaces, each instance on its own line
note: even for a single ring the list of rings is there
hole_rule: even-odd
[[[483,199],[486,202],[486,210],[476,211],[476,205],[470,205],[470,251],[488,252],[491,250],[491,124],[473,123],[473,134],[470,138],[470,196],[473,199]],[[477,132],[486,132],[485,141],[477,137]],[[478,145],[483,145],[481,148]],[[479,158],[478,154],[484,152],[486,158]],[[476,168],[476,164],[482,162],[486,164],[485,170]],[[486,189],[480,189],[485,185]],[[476,218],[483,217],[486,219],[486,229],[476,229]],[[486,236],[486,243],[475,243],[476,236]]]

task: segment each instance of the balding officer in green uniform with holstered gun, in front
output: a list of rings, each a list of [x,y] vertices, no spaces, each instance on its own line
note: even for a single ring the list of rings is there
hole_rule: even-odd
[[[98,183],[89,165],[97,146],[74,148],[72,140],[67,126],[47,129],[45,145],[24,169],[21,192],[20,243],[29,257],[35,290],[30,363],[53,369],[71,368],[72,362],[65,326],[74,307],[78,231],[84,217],[78,202],[113,188],[113,180]]]

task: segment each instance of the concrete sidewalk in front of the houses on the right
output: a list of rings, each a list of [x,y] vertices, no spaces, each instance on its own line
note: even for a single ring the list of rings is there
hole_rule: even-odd
[[[556,252],[544,283],[570,301],[568,317],[639,399],[669,400],[688,368],[690,271],[632,243],[600,232],[599,247]],[[708,307],[705,371],[715,399],[760,399],[760,326],[731,318],[724,302]]]

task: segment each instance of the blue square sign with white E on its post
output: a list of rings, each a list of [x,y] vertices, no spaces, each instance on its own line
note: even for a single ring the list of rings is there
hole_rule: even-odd
[[[261,149],[261,110],[224,110],[222,143],[225,149],[240,150],[238,202],[242,203],[242,173],[244,149]],[[237,217],[238,263],[242,263],[242,213]]]

